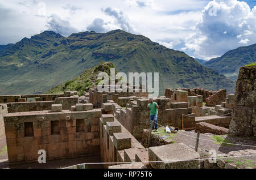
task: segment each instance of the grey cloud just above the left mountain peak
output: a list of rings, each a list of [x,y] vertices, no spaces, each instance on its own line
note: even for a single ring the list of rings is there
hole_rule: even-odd
[[[67,20],[62,20],[56,14],[49,16],[46,26],[49,31],[60,33],[63,36],[69,36],[72,33],[79,32],[76,28],[73,28]]]

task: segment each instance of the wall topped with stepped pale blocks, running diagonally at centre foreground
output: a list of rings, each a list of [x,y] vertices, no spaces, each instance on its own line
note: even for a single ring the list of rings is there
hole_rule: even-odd
[[[108,105],[104,105],[104,107],[104,112],[113,113],[113,109]],[[101,115],[100,149],[101,161],[113,162],[113,164],[105,164],[105,168],[115,165],[114,162],[135,162],[136,156],[137,162],[145,161],[139,158],[141,154],[146,154],[148,160],[146,149],[114,118],[113,114]]]

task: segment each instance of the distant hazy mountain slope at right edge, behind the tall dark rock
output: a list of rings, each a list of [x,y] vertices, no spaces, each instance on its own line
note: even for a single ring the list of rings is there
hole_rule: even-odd
[[[205,62],[204,66],[237,80],[240,67],[252,62],[256,62],[256,44],[230,50],[221,57]]]

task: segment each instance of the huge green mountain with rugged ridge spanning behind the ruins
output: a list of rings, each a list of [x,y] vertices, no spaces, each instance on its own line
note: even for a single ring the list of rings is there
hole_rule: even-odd
[[[115,30],[67,38],[45,31],[23,38],[0,54],[0,94],[45,92],[102,61],[113,62],[118,72],[159,72],[160,95],[165,88],[178,87],[234,91],[232,80],[187,54]]]

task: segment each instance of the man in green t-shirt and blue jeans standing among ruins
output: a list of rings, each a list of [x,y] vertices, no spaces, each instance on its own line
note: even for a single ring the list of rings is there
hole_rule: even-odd
[[[153,98],[150,98],[150,103],[148,103],[147,105],[147,110],[150,111],[150,118],[149,118],[149,121],[150,121],[150,125],[151,125],[151,121],[154,120],[154,123],[153,123],[153,130],[155,129],[155,131],[158,131],[158,104],[156,102],[153,102]]]

